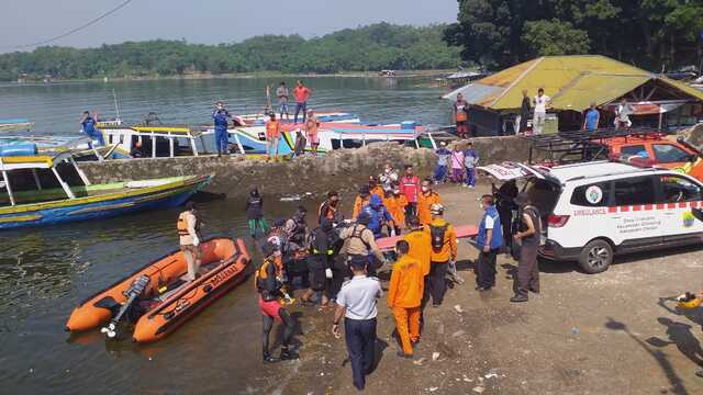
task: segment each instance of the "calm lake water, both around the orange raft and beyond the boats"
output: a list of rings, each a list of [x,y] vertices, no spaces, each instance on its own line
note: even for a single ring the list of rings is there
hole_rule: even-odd
[[[81,111],[138,122],[149,111],[174,123],[208,122],[215,100],[256,111],[277,80],[230,79],[0,86],[0,119],[27,117],[40,133],[77,134]],[[292,79],[291,79],[292,82]],[[427,80],[309,79],[312,104],[355,112],[368,122],[443,124],[447,106]],[[302,191],[291,191],[302,192]],[[316,205],[308,201],[305,204]],[[276,207],[274,207],[276,204]],[[268,201],[269,215],[299,202]],[[245,236],[243,202],[201,205],[209,236]],[[0,393],[266,393],[260,321],[253,286],[244,284],[167,339],[150,346],[105,342],[99,332],[70,337],[64,324],[87,295],[177,248],[178,211],[94,223],[0,233]],[[236,356],[236,357],[235,357]]]

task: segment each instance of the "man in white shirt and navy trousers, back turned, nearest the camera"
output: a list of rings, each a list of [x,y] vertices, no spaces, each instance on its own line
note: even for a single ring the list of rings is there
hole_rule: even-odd
[[[383,295],[377,278],[366,275],[368,258],[356,256],[349,261],[354,278],[342,285],[337,294],[332,332],[339,336],[344,316],[344,337],[347,343],[354,386],[362,391],[366,375],[371,373],[376,346],[376,300]]]

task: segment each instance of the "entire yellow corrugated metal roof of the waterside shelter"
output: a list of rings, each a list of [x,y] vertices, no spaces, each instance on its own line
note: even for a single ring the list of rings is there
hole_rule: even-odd
[[[456,93],[461,92],[472,104],[515,110],[520,109],[523,90],[533,97],[537,89],[544,88],[545,94],[553,98],[554,109],[582,111],[591,102],[607,103],[651,79],[660,79],[703,101],[703,92],[692,87],[600,55],[536,58],[480,79],[445,98],[455,100]]]

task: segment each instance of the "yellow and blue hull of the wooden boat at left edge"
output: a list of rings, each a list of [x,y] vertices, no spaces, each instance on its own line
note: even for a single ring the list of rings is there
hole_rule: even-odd
[[[0,208],[0,229],[56,225],[172,208],[186,203],[210,180],[211,176],[190,177],[182,182],[144,188],[143,191],[3,207]]]

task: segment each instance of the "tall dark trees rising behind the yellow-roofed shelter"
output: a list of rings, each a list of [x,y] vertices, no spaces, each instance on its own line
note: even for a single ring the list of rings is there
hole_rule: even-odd
[[[537,56],[602,54],[654,70],[696,66],[703,0],[458,0],[445,31],[465,60],[498,69]]]

